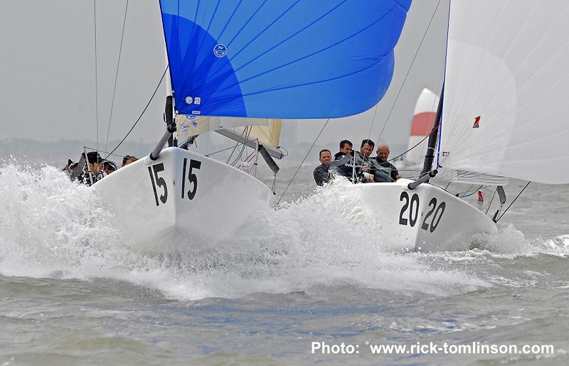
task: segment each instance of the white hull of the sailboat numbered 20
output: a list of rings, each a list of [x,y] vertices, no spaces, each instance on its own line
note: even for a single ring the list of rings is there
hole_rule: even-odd
[[[408,179],[354,185],[367,210],[374,212],[373,231],[393,249],[445,251],[469,249],[473,234],[496,233],[496,225],[469,203],[440,187],[421,184],[409,190]]]

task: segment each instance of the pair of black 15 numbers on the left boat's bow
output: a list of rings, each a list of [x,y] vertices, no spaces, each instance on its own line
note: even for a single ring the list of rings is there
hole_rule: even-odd
[[[189,165],[189,168],[188,168]],[[182,168],[182,193],[181,197],[188,197],[189,200],[193,200],[196,196],[196,191],[198,190],[198,177],[196,176],[195,170],[201,168],[201,161],[190,159],[188,164],[188,159],[184,158],[184,166]],[[195,170],[194,170],[195,169]],[[150,181],[152,183],[152,190],[154,190],[154,199],[156,200],[156,206],[160,203],[166,203],[168,201],[168,185],[166,181],[159,174],[164,171],[164,163],[157,163],[153,166],[148,167],[148,173],[150,174]],[[186,178],[186,171],[188,176]],[[188,188],[186,191],[186,180],[189,181]],[[161,190],[161,192],[159,192]],[[160,193],[160,196],[158,195]]]

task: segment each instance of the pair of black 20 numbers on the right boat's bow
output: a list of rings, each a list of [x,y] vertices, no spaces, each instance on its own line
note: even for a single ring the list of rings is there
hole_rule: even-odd
[[[401,208],[401,211],[399,213],[399,225],[410,225],[411,227],[415,226],[419,217],[419,195],[417,193],[413,193],[409,199],[409,194],[404,191],[401,192],[399,200],[401,202],[404,202],[403,208]],[[439,225],[442,214],[445,213],[447,204],[441,202],[439,205],[437,205],[437,198],[433,197],[429,201],[429,207],[429,212],[427,212],[427,215],[425,215],[425,218],[422,220],[421,229],[434,232]],[[407,215],[407,209],[409,209],[409,215]]]

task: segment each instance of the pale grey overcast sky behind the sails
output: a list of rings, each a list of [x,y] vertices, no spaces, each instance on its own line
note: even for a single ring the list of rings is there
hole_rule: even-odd
[[[438,93],[442,83],[448,0],[414,0],[395,48],[395,75],[378,104],[371,139],[376,140],[427,30],[418,57],[395,103],[382,141],[408,140],[410,120],[423,87]],[[105,146],[122,139],[147,104],[164,72],[164,36],[157,0],[129,1],[115,103],[111,102],[126,0],[2,1],[0,12],[0,123],[2,139],[38,141],[92,139]],[[95,13],[97,83],[95,83]],[[98,134],[97,98],[98,88]],[[164,131],[165,87],[130,136],[154,143]],[[331,149],[339,140],[370,135],[375,109],[331,121],[319,142]],[[109,124],[110,122],[110,124]],[[324,120],[292,122],[285,139],[312,142]],[[287,134],[287,129],[292,133]],[[282,141],[286,146],[289,141]]]

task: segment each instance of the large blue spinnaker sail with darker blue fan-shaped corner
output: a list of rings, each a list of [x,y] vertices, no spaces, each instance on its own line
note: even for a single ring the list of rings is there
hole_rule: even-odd
[[[393,76],[411,0],[160,0],[179,114],[335,118]]]

